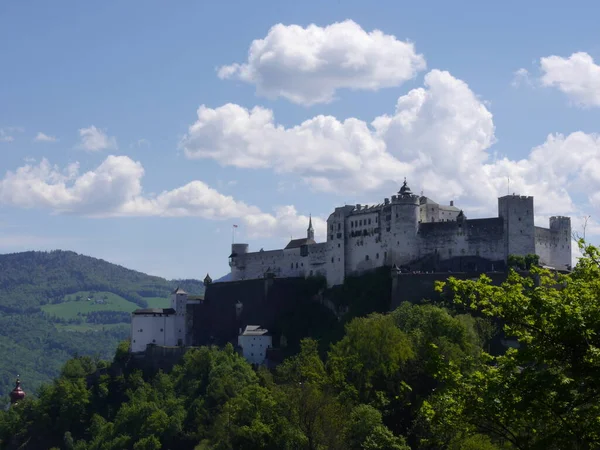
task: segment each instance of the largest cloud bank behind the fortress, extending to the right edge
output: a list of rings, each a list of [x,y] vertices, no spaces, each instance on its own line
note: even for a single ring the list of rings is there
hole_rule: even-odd
[[[432,70],[392,114],[371,123],[316,116],[284,127],[265,108],[203,105],[181,147],[192,159],[293,173],[316,191],[389,194],[406,176],[413,190],[458,200],[483,215],[495,214],[495,199],[506,194],[510,179],[511,192],[536,197],[542,224],[547,215],[600,212],[597,135],[550,134],[520,160],[495,157],[495,140],[484,102],[464,81]]]

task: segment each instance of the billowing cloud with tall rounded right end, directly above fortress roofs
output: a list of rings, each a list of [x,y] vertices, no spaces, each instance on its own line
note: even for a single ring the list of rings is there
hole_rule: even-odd
[[[493,141],[492,115],[467,84],[433,70],[425,76],[425,88],[400,97],[393,115],[371,124],[316,116],[285,128],[261,107],[202,105],[181,147],[189,158],[297,173],[322,191],[360,193],[411,176],[428,179],[428,189],[447,192],[459,188],[446,181],[435,187],[430,175],[479,180],[471,167],[487,158]]]

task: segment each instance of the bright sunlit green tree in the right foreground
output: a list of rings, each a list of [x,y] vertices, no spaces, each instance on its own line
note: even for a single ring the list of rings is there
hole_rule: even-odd
[[[456,304],[499,318],[520,347],[473,372],[448,364],[447,388],[423,405],[432,435],[485,432],[519,449],[600,446],[600,252],[580,245],[572,274],[532,267],[501,286],[448,280]]]

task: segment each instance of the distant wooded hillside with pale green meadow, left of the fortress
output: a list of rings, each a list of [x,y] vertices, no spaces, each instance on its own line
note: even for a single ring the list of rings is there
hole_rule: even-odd
[[[110,357],[129,334],[131,311],[167,306],[177,286],[204,293],[198,280],[166,280],[69,251],[0,255],[0,396],[17,374],[35,390],[74,355]]]

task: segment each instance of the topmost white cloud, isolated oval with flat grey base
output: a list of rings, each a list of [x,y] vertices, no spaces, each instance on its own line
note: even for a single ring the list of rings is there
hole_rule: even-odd
[[[425,67],[412,43],[346,20],[326,27],[275,25],[252,42],[246,63],[223,66],[218,75],[308,106],[330,102],[338,89],[399,86]]]

